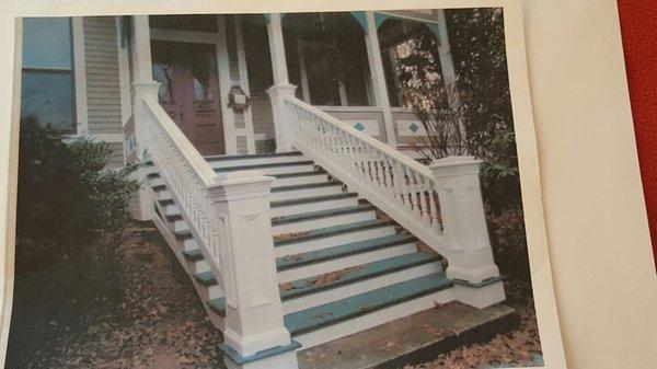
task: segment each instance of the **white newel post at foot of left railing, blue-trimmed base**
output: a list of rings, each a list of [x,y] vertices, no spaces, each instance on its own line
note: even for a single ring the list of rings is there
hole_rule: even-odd
[[[212,251],[226,292],[221,349],[228,368],[297,369],[278,290],[269,188],[258,172],[221,175],[209,188],[220,250]],[[219,260],[217,263],[217,258]],[[219,265],[217,265],[219,264]]]

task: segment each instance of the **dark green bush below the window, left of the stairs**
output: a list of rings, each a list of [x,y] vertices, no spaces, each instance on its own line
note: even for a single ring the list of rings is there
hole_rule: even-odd
[[[129,219],[134,166],[106,169],[111,147],[89,138],[62,140],[32,118],[21,122],[16,266],[53,262]]]

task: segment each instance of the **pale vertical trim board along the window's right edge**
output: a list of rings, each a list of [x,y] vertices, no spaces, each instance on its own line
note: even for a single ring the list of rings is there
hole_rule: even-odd
[[[89,112],[87,105],[87,65],[84,62],[84,19],[73,16],[73,78],[76,89],[76,120],[78,135],[89,134]]]

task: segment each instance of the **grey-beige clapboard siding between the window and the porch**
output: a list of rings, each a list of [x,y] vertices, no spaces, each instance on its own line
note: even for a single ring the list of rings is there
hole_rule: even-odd
[[[89,131],[123,134],[114,16],[84,18],[84,64]],[[112,166],[123,165],[123,143],[112,142]]]

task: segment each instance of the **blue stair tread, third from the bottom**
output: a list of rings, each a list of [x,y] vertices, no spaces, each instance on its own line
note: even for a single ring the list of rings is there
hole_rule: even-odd
[[[392,234],[359,242],[351,242],[333,247],[277,257],[276,268],[280,272],[415,241],[417,241],[417,238],[414,235]]]

